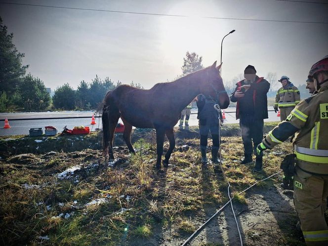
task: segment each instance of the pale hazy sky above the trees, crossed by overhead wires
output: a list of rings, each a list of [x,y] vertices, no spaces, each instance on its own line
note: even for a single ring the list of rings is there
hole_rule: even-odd
[[[313,0],[315,2],[327,0]],[[98,77],[145,88],[182,74],[186,51],[203,65],[220,61],[225,82],[248,64],[257,75],[287,75],[303,84],[311,65],[328,55],[328,24],[213,19],[265,19],[328,23],[328,4],[281,0],[12,0],[14,3],[187,15],[172,17],[0,3],[28,72],[46,87]]]

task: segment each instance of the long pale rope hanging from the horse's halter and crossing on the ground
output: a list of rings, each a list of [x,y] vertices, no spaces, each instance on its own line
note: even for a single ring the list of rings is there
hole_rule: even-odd
[[[218,107],[218,109],[217,109],[217,107]],[[214,105],[214,108],[216,109],[216,110],[219,110],[220,108],[219,108],[219,105]],[[219,121],[220,121],[220,114],[219,114]],[[227,178],[226,178],[226,176],[225,176],[225,174],[224,174],[224,172],[223,172],[223,169],[222,169],[222,156],[221,156],[221,134],[220,134],[221,132],[220,132],[220,126],[219,126],[219,154],[220,154],[220,162],[221,162],[221,170],[222,170],[222,173],[223,173],[223,175],[224,175],[224,178],[227,180]],[[252,184],[251,186],[249,186],[248,188],[246,188],[245,190],[243,190],[243,191],[241,191],[240,193],[238,193],[237,195],[240,195],[240,194],[242,194],[242,193],[244,193],[244,192],[246,192],[247,190],[249,190],[250,188],[252,188],[253,186],[255,186],[257,183],[259,183],[259,182],[262,182],[262,181],[265,181],[265,180],[267,180],[267,179],[269,179],[269,178],[271,178],[271,177],[273,177],[273,176],[275,176],[275,175],[277,175],[277,174],[279,174],[279,173],[281,173],[283,170],[280,170],[279,172],[276,172],[276,173],[274,173],[274,174],[272,174],[271,176],[269,176],[269,177],[266,177],[266,178],[264,178],[264,179],[262,179],[262,180],[259,180],[259,181],[256,181],[254,184]],[[198,233],[198,232],[200,232],[202,229],[203,229],[203,227],[212,219],[212,218],[214,218],[221,210],[223,210],[223,208],[225,208],[226,207],[226,205],[228,205],[229,203],[231,204],[231,208],[232,208],[232,211],[233,211],[233,214],[234,214],[234,217],[235,217],[235,221],[236,221],[236,225],[237,225],[237,229],[238,229],[238,233],[239,233],[239,238],[240,238],[240,242],[241,242],[241,245],[243,246],[243,241],[242,241],[242,235],[241,235],[241,232],[240,232],[240,229],[239,229],[239,226],[238,226],[238,222],[237,222],[237,218],[236,218],[236,215],[235,215],[235,211],[234,211],[234,208],[233,208],[233,206],[232,206],[232,199],[234,199],[234,197],[235,196],[233,196],[232,198],[230,197],[230,183],[229,183],[229,181],[227,180],[227,182],[228,182],[228,184],[229,184],[229,186],[228,186],[228,196],[229,196],[229,201],[225,204],[225,205],[223,205],[219,210],[217,210],[208,220],[206,220],[206,222],[203,224],[203,225],[201,225],[181,246],[185,246],[185,245],[187,245],[188,243],[189,243],[189,241]]]

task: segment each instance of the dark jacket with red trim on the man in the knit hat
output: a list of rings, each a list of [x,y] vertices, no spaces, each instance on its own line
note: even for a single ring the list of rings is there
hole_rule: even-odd
[[[256,120],[268,119],[268,98],[267,93],[270,88],[270,83],[263,77],[255,77],[255,82],[250,83],[250,88],[245,92],[245,97],[236,98],[236,91],[240,90],[241,86],[247,84],[246,80],[242,80],[236,83],[236,89],[230,95],[232,102],[237,102],[236,106],[236,119],[246,117],[248,112],[245,112],[246,108],[251,106],[253,115],[250,117]],[[248,105],[248,106],[247,106]]]

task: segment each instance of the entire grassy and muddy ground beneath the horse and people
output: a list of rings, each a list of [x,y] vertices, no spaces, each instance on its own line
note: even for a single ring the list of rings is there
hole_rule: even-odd
[[[51,145],[56,151],[50,151],[49,140],[43,138],[39,138],[42,142],[25,136],[1,138],[2,244],[182,245],[228,201],[228,180],[236,195],[233,207],[244,245],[304,245],[295,227],[293,192],[280,188],[281,174],[237,195],[278,172],[283,156],[291,152],[290,143],[266,152],[264,171],[257,174],[251,172],[253,164],[239,164],[241,137],[222,137],[226,180],[212,164],[200,164],[197,130],[177,130],[170,166],[160,171],[154,168],[154,132],[136,134],[145,139],[133,139],[136,155],[117,146],[113,163],[106,162],[94,146],[101,143],[98,135],[53,137]],[[27,147],[24,151],[24,145],[35,143],[38,149]],[[64,151],[63,143],[70,143],[73,149],[67,144]],[[166,142],[164,150],[167,147]],[[210,157],[210,149],[207,153]],[[188,245],[240,245],[231,206],[206,224]]]

